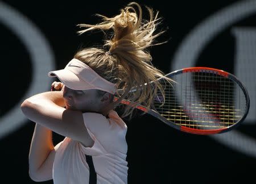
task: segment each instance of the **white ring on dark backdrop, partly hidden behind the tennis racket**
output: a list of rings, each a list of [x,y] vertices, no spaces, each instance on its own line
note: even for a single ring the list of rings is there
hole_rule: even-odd
[[[181,42],[174,60],[171,61],[171,71],[195,66],[197,56],[214,36],[255,12],[256,1],[240,1],[205,19]],[[229,148],[256,157],[256,141],[236,130],[210,137]]]

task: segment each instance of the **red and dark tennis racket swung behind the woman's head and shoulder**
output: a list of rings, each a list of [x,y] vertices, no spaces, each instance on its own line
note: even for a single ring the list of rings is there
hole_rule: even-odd
[[[183,132],[210,135],[237,127],[246,118],[250,99],[243,83],[224,70],[192,67],[168,73],[163,95],[157,93],[154,106],[136,108]],[[118,98],[114,97],[114,101]],[[132,105],[123,99],[122,104]]]

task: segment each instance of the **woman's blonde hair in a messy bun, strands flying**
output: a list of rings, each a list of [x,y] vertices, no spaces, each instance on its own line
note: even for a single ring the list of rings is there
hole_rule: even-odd
[[[138,13],[133,6],[136,6]],[[164,95],[163,86],[157,81],[164,77],[163,72],[155,68],[151,63],[151,55],[146,50],[153,44],[153,40],[163,33],[154,35],[156,26],[159,24],[158,12],[154,12],[146,7],[150,15],[149,20],[142,19],[142,8],[138,3],[131,2],[121,13],[113,18],[101,16],[103,22],[95,25],[79,24],[85,27],[78,33],[84,34],[90,30],[113,30],[110,40],[105,40],[104,47],[84,48],[77,52],[75,58],[89,65],[101,77],[116,84],[117,95],[121,97],[125,93],[128,99],[135,106],[143,104],[147,108],[151,107],[154,96],[160,91]],[[158,43],[162,44],[162,43]],[[144,85],[154,81],[154,85]],[[127,93],[131,89],[137,89],[133,93]],[[134,108],[126,106],[122,118],[131,118]]]

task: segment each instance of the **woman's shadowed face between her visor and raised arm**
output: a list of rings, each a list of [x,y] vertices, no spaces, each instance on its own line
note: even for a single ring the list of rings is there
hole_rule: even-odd
[[[101,98],[96,89],[72,90],[63,86],[63,98],[67,109],[82,112],[99,112],[102,106]]]

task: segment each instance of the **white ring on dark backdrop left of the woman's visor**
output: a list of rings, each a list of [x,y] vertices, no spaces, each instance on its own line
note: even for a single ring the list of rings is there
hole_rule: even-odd
[[[47,73],[54,68],[53,53],[46,38],[25,16],[0,1],[0,22],[11,30],[25,45],[32,61],[32,81],[26,94],[0,119],[0,139],[22,126],[27,118],[20,110],[24,99],[49,89]],[[12,61],[11,61],[12,62]],[[13,61],[15,62],[15,61]],[[18,76],[17,76],[18,77]]]

